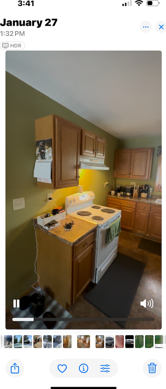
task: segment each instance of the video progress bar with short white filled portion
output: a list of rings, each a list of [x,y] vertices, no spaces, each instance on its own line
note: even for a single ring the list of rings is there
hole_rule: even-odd
[[[13,317],[12,321],[155,321],[154,317]]]

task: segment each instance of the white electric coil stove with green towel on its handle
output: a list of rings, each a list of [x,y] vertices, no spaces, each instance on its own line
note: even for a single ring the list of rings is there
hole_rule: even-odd
[[[66,214],[97,224],[96,248],[95,248],[95,267],[92,282],[96,283],[102,278],[106,270],[117,256],[118,237],[105,244],[106,230],[116,219],[121,217],[121,210],[102,205],[93,204],[95,195],[93,192],[75,193],[67,196],[65,200]]]

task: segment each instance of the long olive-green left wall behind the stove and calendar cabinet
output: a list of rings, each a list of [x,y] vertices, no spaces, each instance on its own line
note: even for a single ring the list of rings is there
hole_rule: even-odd
[[[12,303],[36,282],[35,231],[32,218],[52,210],[55,202],[47,203],[47,192],[36,186],[35,119],[57,114],[106,138],[105,164],[109,171],[80,171],[83,190],[95,193],[95,202],[106,205],[107,190],[113,185],[114,150],[119,140],[88,122],[61,104],[43,95],[13,75],[6,73],[6,304]],[[109,186],[104,188],[104,182]],[[53,192],[57,206],[65,205],[65,197],[76,193],[76,187]],[[25,209],[13,211],[12,199],[25,198]]]

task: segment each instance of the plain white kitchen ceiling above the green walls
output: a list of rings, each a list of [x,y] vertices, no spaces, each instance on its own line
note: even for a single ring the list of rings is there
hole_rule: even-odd
[[[161,134],[160,51],[8,51],[6,70],[117,138]]]

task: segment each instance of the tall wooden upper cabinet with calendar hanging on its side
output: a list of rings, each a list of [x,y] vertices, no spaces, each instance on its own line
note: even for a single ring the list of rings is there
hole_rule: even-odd
[[[79,184],[81,128],[50,115],[35,121],[36,140],[52,139],[52,183],[37,186],[59,189]]]

